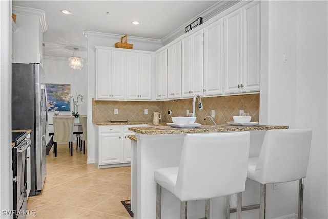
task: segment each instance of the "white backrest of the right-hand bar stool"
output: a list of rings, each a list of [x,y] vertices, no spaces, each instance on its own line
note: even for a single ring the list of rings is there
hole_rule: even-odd
[[[282,183],[306,177],[311,129],[268,130],[254,175],[261,184]]]

